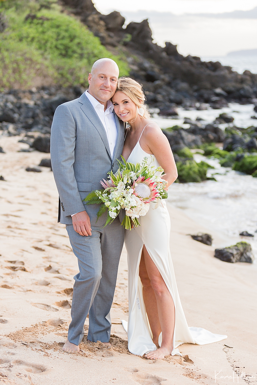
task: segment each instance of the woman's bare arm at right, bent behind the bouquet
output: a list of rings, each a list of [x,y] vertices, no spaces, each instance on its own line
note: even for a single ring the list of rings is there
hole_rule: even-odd
[[[160,166],[164,169],[163,179],[168,181],[170,186],[178,177],[178,171],[170,143],[156,123],[149,124],[142,135],[143,141],[140,145],[146,152],[152,152]]]

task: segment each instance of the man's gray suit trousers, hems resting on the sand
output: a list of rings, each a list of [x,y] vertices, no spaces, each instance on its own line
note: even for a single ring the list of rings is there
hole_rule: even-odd
[[[81,236],[67,224],[79,273],[74,276],[71,324],[68,340],[79,345],[84,336],[84,323],[89,313],[88,339],[109,342],[110,310],[118,273],[119,258],[124,243],[124,228],[119,218],[106,227],[91,226],[91,236]]]

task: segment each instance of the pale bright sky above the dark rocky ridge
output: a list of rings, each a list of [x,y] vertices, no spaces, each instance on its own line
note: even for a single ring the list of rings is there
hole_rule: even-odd
[[[183,55],[226,56],[228,52],[257,49],[256,18],[217,18],[194,14],[247,11],[257,0],[93,0],[102,13],[121,12],[126,23],[148,18],[154,42],[178,45]],[[191,15],[188,15],[191,14]]]

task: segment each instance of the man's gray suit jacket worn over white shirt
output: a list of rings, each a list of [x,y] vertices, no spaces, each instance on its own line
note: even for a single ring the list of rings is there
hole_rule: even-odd
[[[114,112],[113,112],[114,114]],[[113,159],[104,126],[85,94],[59,105],[51,128],[50,153],[54,179],[59,192],[59,218],[72,224],[71,214],[86,209],[92,226],[102,226],[106,215],[96,223],[100,205],[84,205],[90,191],[101,189],[100,181],[118,169],[124,145],[124,123],[115,114],[118,136]]]

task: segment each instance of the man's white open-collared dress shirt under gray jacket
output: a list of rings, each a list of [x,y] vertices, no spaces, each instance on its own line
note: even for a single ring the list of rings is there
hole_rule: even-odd
[[[104,129],[106,131],[109,148],[111,152],[111,157],[113,159],[113,152],[114,147],[116,145],[117,136],[118,136],[118,130],[117,125],[113,113],[114,105],[111,102],[111,100],[108,100],[107,102],[107,108],[104,111],[104,105],[99,103],[98,100],[94,98],[91,94],[89,94],[88,90],[86,90],[85,95],[91,102],[92,106],[94,107],[97,115],[99,116],[99,119],[102,122],[102,125],[104,126]],[[77,213],[76,213],[77,214]],[[72,216],[75,214],[72,214]]]

